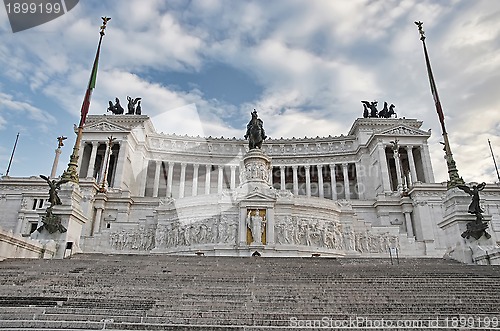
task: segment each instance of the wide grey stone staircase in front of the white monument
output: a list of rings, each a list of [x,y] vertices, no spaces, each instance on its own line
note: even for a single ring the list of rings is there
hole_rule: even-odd
[[[5,260],[0,330],[500,330],[500,267],[393,263],[103,254]]]

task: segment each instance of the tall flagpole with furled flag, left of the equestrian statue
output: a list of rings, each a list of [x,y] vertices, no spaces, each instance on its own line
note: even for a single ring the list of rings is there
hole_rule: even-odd
[[[101,31],[99,31],[100,38],[99,38],[99,44],[97,46],[97,51],[94,59],[94,65],[92,66],[92,72],[90,74],[90,79],[89,79],[89,84],[87,86],[87,91],[85,93],[85,97],[83,99],[83,104],[82,104],[82,109],[81,109],[81,115],[80,115],[80,124],[78,125],[78,130],[76,133],[76,140],[75,140],[75,145],[73,147],[73,153],[71,154],[69,158],[69,163],[68,163],[68,168],[66,171],[64,171],[62,178],[67,179],[69,181],[72,181],[73,183],[78,184],[78,157],[79,157],[79,150],[80,150],[80,144],[82,141],[82,134],[83,134],[83,126],[85,125],[85,120],[87,118],[87,113],[89,111],[90,107],[90,98],[92,96],[92,90],[95,87],[95,81],[97,77],[97,65],[99,63],[99,53],[101,51],[101,43],[102,43],[102,37],[104,37],[104,30],[106,29],[106,24],[111,18],[109,17],[102,17],[102,25],[100,27]]]

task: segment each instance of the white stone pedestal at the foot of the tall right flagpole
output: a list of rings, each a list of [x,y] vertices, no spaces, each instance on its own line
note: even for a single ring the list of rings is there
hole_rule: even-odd
[[[448,252],[445,257],[462,263],[500,264],[500,248],[492,238],[486,238],[484,235],[479,239],[462,237],[467,230],[467,223],[476,220],[475,215],[467,212],[470,201],[470,196],[457,188],[446,193],[443,221],[438,223],[448,238]],[[491,215],[483,217],[484,221],[490,223]]]

